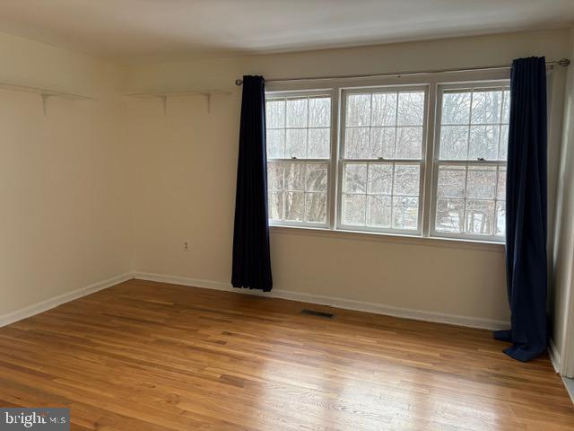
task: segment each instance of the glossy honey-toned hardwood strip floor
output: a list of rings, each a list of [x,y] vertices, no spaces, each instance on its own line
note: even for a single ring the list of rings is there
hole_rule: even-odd
[[[0,406],[69,407],[73,430],[574,430],[548,357],[503,347],[486,330],[130,280],[0,329]]]

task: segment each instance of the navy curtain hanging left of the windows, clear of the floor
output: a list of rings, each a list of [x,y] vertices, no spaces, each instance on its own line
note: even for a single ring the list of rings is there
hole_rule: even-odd
[[[243,76],[231,284],[265,292],[273,286],[267,220],[265,80],[262,76]]]

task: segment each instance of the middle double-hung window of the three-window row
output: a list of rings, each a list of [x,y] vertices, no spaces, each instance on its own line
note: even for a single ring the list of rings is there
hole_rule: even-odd
[[[343,92],[339,226],[420,231],[426,88]]]

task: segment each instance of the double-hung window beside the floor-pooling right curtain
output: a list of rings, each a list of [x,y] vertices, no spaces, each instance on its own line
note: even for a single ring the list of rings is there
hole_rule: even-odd
[[[509,95],[504,85],[439,87],[432,234],[504,238]]]

